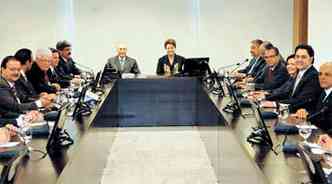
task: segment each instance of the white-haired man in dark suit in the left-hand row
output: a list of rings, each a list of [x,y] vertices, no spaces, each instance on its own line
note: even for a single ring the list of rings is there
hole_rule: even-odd
[[[31,70],[27,73],[27,78],[37,93],[56,93],[61,88],[57,83],[52,84],[47,75],[51,58],[51,51],[38,49],[36,52],[36,62],[32,64]]]

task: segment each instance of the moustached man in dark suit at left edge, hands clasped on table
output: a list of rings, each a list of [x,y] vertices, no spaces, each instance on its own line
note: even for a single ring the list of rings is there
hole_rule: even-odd
[[[4,118],[17,118],[26,111],[37,110],[51,104],[47,98],[22,103],[17,95],[15,81],[20,77],[21,63],[14,56],[7,56],[1,63],[0,115]]]

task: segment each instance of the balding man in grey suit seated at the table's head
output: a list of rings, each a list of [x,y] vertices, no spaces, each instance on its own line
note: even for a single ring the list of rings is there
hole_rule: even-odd
[[[117,72],[123,73],[141,73],[138,64],[134,58],[127,56],[127,46],[125,44],[119,44],[117,46],[117,55],[107,60],[105,68],[115,69]]]

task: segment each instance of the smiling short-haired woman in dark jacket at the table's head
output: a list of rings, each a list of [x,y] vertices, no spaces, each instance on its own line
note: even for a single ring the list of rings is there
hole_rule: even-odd
[[[159,58],[157,66],[158,75],[174,75],[181,73],[183,70],[183,64],[185,58],[175,54],[176,41],[174,39],[168,39],[164,43],[164,48],[167,54]]]

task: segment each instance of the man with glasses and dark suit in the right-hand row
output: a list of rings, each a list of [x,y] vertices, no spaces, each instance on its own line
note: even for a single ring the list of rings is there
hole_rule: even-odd
[[[279,61],[278,55],[278,48],[272,45],[266,47],[264,59],[267,65],[263,73],[254,80],[256,89],[273,90],[288,80],[289,75],[286,66]]]

